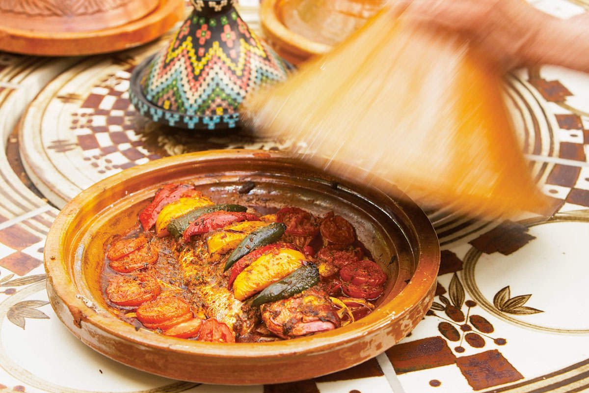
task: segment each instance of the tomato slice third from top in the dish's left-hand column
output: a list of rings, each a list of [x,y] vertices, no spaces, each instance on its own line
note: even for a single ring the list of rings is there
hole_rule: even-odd
[[[105,290],[108,300],[118,306],[136,307],[157,298],[160,285],[147,274],[116,276]]]

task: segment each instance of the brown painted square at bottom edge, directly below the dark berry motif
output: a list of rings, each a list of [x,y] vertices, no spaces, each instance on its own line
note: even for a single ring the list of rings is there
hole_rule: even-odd
[[[524,378],[497,349],[476,355],[462,356],[456,359],[456,365],[468,384],[475,390],[507,384]]]

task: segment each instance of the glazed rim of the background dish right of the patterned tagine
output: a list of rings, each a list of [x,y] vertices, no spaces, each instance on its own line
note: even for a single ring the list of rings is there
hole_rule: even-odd
[[[290,31],[276,14],[276,5],[280,0],[264,0],[260,5],[260,22],[262,27],[272,36],[280,39],[280,44],[289,52],[306,52],[306,56],[322,55],[333,47],[320,42],[311,41],[300,34]]]

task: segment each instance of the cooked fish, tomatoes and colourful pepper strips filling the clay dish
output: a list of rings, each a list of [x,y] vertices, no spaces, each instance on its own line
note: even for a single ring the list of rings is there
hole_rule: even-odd
[[[368,315],[388,279],[337,212],[263,215],[167,184],[138,222],[105,245],[104,298],[123,321],[167,336],[266,342],[329,331]]]

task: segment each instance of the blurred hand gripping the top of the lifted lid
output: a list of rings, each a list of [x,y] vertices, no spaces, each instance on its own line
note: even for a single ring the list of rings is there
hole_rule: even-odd
[[[506,70],[535,62],[542,30],[561,22],[524,0],[397,0],[402,18],[461,32]],[[549,50],[550,48],[544,48]]]

